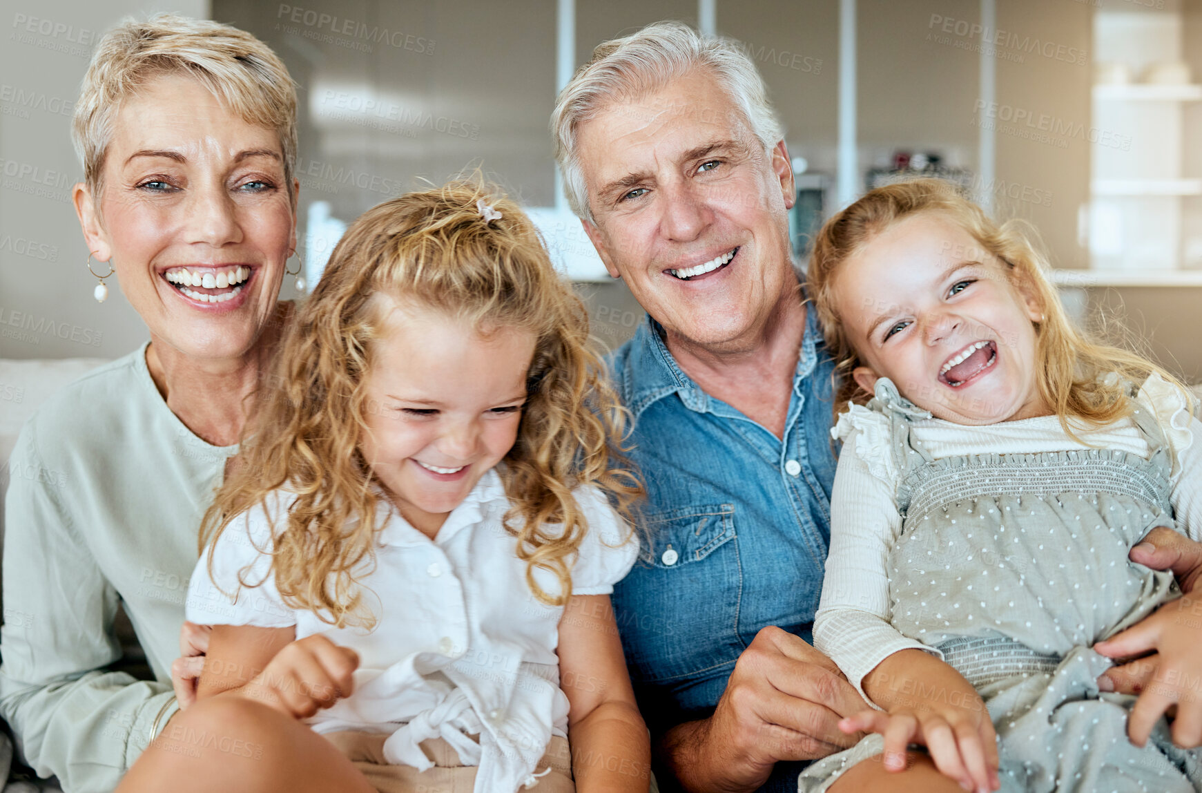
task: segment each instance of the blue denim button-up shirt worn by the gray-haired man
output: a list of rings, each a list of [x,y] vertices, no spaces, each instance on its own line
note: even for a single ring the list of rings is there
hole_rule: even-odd
[[[613,604],[639,709],[656,736],[713,712],[761,628],[811,641],[835,471],[834,365],[813,307],[783,439],[702,391],[661,332],[648,318],[609,361],[648,493],[642,558],[615,586]],[[779,764],[773,782],[779,776],[781,789],[796,791],[801,768]]]

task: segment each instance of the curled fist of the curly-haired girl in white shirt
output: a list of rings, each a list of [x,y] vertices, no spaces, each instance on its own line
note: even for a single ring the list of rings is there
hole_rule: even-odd
[[[319,633],[285,645],[240,691],[293,718],[308,718],[351,696],[358,665],[358,653]]]

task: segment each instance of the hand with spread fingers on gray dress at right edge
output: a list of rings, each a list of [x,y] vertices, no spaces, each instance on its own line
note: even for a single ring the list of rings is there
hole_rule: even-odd
[[[1185,594],[1160,606],[1152,616],[1099,641],[1094,650],[1108,658],[1139,656],[1155,650],[1158,655],[1143,658],[1152,665],[1139,699],[1127,718],[1127,735],[1136,746],[1143,746],[1153,727],[1172,705],[1173,742],[1184,748],[1202,745],[1202,596]]]

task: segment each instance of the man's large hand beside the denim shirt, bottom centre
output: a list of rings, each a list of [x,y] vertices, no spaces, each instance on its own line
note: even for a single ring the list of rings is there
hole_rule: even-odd
[[[779,761],[855,746],[863,734],[839,721],[864,708],[834,662],[769,626],[739,656],[714,715],[673,728],[662,747],[685,789],[754,791]]]

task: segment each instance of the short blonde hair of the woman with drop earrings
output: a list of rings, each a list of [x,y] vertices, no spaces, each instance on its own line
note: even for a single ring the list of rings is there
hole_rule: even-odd
[[[105,34],[91,57],[71,141],[93,194],[101,188],[105,153],[121,103],[165,73],[191,75],[248,124],[275,130],[288,195],[294,199],[297,93],[284,61],[245,30],[166,13],[121,23]]]

